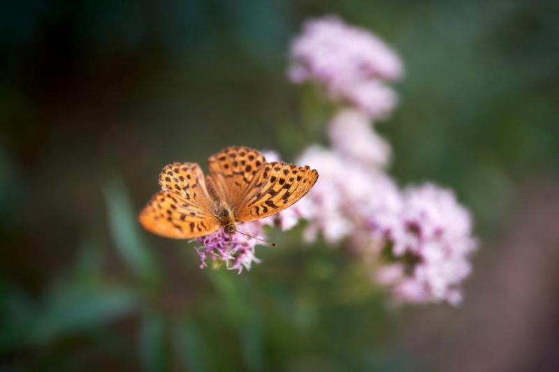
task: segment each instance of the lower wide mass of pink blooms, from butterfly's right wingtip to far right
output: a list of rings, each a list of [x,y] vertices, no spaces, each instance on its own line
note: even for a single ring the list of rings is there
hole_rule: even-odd
[[[320,233],[363,253],[396,302],[460,302],[477,241],[451,191],[433,184],[400,191],[382,170],[322,147],[299,161],[321,174],[307,195],[307,241]]]

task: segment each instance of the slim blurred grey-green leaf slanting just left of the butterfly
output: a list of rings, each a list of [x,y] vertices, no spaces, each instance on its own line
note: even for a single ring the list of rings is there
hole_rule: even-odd
[[[112,240],[129,267],[149,283],[159,281],[152,253],[140,236],[129,193],[122,180],[112,179],[104,189]]]

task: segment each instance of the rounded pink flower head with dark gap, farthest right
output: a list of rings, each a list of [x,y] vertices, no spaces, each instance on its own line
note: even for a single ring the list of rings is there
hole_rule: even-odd
[[[370,219],[373,235],[387,243],[377,282],[400,301],[458,304],[458,285],[470,274],[468,258],[477,248],[470,214],[450,190],[425,184],[404,192],[394,217]]]

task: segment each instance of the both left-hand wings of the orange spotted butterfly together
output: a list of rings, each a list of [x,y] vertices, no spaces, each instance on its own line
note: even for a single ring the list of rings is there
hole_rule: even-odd
[[[162,237],[188,239],[219,229],[215,204],[208,195],[203,172],[196,163],[173,163],[159,174],[162,191],[140,212],[146,230]]]

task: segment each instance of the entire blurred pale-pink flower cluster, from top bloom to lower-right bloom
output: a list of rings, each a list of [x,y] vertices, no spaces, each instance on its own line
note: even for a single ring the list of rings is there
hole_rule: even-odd
[[[312,146],[298,159],[320,179],[307,195],[305,239],[319,233],[363,254],[375,283],[397,302],[458,304],[477,248],[472,221],[449,190],[433,184],[401,191],[386,174],[391,149],[371,126],[393,109],[384,85],[402,65],[376,36],[323,17],[305,24],[291,50],[289,75],[344,98],[328,124],[332,149]]]

